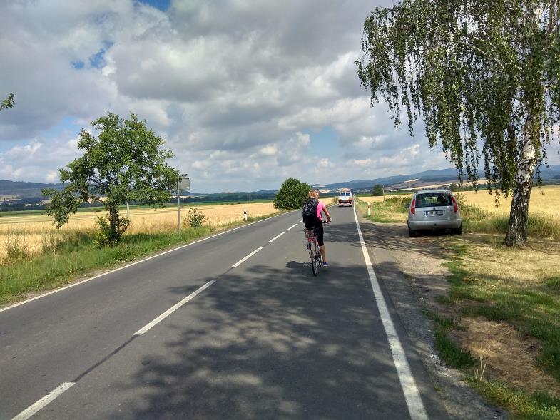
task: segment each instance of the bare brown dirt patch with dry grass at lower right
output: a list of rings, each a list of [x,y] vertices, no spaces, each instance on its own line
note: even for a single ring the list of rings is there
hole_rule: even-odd
[[[492,322],[482,317],[463,318],[463,329],[450,335],[473,357],[482,356],[486,363],[485,376],[506,381],[529,392],[546,391],[560,397],[560,385],[544,374],[535,364],[539,355],[539,340],[521,337],[504,322]]]

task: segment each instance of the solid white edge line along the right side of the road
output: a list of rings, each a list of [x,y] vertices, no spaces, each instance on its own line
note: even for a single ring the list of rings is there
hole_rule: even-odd
[[[372,284],[373,294],[375,296],[375,302],[377,303],[377,308],[380,312],[381,321],[383,328],[385,329],[385,334],[387,334],[387,339],[389,341],[389,347],[393,356],[394,366],[397,369],[397,374],[399,376],[399,381],[401,384],[402,392],[404,394],[404,400],[407,402],[408,412],[412,420],[427,420],[428,415],[424,404],[422,403],[422,398],[416,386],[416,381],[414,381],[414,376],[412,376],[412,371],[408,364],[407,355],[404,353],[402,343],[400,342],[399,336],[397,334],[397,329],[394,328],[394,324],[383,298],[381,292],[381,287],[379,282],[377,282],[377,277],[375,277],[375,272],[372,266],[372,260],[367,252],[367,247],[365,246],[364,236],[362,235],[362,230],[360,229],[360,222],[356,215],[356,210],[354,211],[354,218],[356,220],[356,227],[358,230],[358,237],[360,237],[360,245],[362,245],[362,252],[364,254],[365,265],[367,267],[367,274],[370,275],[370,282]]]

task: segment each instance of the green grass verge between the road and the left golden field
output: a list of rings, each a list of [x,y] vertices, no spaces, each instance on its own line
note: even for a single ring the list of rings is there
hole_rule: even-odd
[[[263,220],[280,214],[248,217],[247,222]],[[235,222],[219,229],[243,225]],[[96,247],[94,232],[75,232],[51,252],[36,257],[16,258],[9,265],[0,266],[0,304],[25,299],[27,295],[66,285],[80,276],[96,270],[109,270],[126,262],[139,260],[156,252],[193,242],[209,235],[215,227],[187,227],[177,232],[124,235],[118,247]]]

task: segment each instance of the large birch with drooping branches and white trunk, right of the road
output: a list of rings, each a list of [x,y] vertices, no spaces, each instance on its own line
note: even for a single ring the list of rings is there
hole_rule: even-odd
[[[527,242],[534,175],[559,121],[559,3],[555,0],[404,0],[375,9],[362,38],[357,73],[387,101],[396,126],[424,121],[476,185],[484,160],[488,188],[513,192],[504,244]],[[482,148],[482,154],[481,154]]]

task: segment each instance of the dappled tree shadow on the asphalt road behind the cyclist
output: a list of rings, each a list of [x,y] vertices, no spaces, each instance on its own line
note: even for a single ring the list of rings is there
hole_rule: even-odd
[[[118,381],[137,396],[107,418],[408,418],[365,268],[332,268],[220,276]]]

